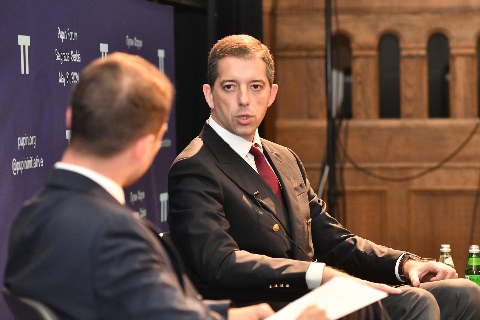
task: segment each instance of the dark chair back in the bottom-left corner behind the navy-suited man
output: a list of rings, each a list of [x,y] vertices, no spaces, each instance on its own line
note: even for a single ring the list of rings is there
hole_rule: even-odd
[[[2,288],[1,293],[17,320],[59,320],[50,308],[39,301],[23,296],[15,296],[5,286]]]

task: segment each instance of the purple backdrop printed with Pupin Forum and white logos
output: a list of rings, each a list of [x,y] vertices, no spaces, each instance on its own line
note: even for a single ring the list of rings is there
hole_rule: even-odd
[[[3,0],[0,39],[3,283],[12,220],[68,145],[65,109],[79,72],[102,55],[122,51],[149,60],[174,82],[173,8],[144,0]],[[125,190],[127,203],[164,231],[175,149],[172,111],[154,165]],[[13,319],[2,297],[0,319]]]

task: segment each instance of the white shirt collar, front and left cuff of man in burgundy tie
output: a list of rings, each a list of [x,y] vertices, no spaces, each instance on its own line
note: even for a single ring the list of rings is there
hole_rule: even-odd
[[[260,136],[258,135],[258,129],[255,130],[255,136],[253,137],[253,142],[250,142],[248,140],[243,139],[242,137],[239,137],[231,133],[230,131],[224,129],[223,127],[220,127],[220,125],[217,124],[214,119],[212,119],[212,116],[210,116],[210,118],[208,119],[208,124],[225,142],[227,142],[227,144],[237,154],[240,155],[240,157],[243,160],[245,160],[253,168],[253,170],[255,170],[258,173],[253,155],[250,154],[250,148],[252,147],[253,143],[258,144],[258,146],[260,147],[260,150],[262,150],[262,153],[264,152],[264,149],[262,147],[262,142],[260,141]],[[272,167],[266,158],[265,160],[268,163],[268,165]],[[272,168],[272,171],[274,171],[273,168]],[[280,187],[281,187],[282,184],[280,183],[280,181],[278,181],[278,183],[280,184]],[[310,263],[310,266],[308,267],[307,272],[305,273],[305,281],[309,289],[314,289],[322,283],[324,267],[325,267],[325,263],[323,262]]]

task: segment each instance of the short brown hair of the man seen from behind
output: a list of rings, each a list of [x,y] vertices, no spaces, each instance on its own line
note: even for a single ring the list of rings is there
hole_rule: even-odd
[[[72,98],[72,148],[111,156],[168,121],[173,86],[143,58],[114,53],[80,74]]]

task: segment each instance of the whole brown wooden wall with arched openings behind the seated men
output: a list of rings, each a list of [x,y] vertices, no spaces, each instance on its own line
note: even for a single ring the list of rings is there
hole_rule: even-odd
[[[266,0],[264,8],[270,12],[266,35],[279,85],[275,109],[268,111],[275,114],[275,128],[267,131],[275,133],[268,138],[300,156],[317,191],[326,149],[324,2]],[[338,20],[352,49],[353,119],[344,121],[339,135],[336,170],[337,176],[343,172],[347,208],[337,209],[337,218],[362,237],[436,259],[440,244],[450,242],[463,275],[465,225],[480,174],[480,131],[448,163],[421,178],[389,181],[356,166],[408,177],[435,166],[466,139],[479,121],[480,1],[338,0]],[[335,19],[332,28],[335,33]],[[451,48],[451,119],[428,119],[427,42],[436,32],[444,33]],[[401,119],[377,119],[376,50],[385,33],[399,39]],[[343,156],[347,142],[355,166]]]

